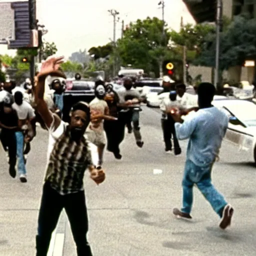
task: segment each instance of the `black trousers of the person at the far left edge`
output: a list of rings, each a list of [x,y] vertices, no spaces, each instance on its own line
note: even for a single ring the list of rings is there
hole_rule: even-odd
[[[15,131],[2,128],[0,131],[0,140],[4,151],[8,148],[9,165],[14,167],[16,165],[17,154]]]

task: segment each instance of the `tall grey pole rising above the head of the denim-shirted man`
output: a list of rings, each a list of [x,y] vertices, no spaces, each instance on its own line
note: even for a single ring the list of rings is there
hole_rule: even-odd
[[[215,55],[215,73],[214,73],[214,85],[217,88],[219,82],[219,36],[220,36],[220,23],[222,13],[222,0],[217,0],[217,16],[216,16],[216,55]]]

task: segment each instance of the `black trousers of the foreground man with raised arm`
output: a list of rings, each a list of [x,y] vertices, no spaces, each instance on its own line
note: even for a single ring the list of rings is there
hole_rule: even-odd
[[[63,208],[70,222],[71,231],[76,244],[77,256],[92,256],[86,238],[88,218],[84,191],[60,195],[50,187],[48,182],[45,182],[43,185],[38,215],[36,256],[47,255],[51,233],[56,227],[60,212]]]

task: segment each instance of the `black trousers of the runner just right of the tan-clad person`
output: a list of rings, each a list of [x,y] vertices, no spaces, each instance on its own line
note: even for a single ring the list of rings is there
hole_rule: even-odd
[[[107,138],[107,150],[113,153],[120,153],[119,144],[124,138],[123,120],[117,121],[104,120],[104,130]]]

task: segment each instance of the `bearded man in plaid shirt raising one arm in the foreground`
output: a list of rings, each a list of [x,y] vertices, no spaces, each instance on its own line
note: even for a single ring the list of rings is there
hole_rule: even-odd
[[[62,209],[65,209],[70,222],[78,256],[92,256],[87,241],[88,218],[83,187],[83,176],[86,169],[90,177],[100,184],[105,179],[102,169],[95,168],[92,145],[88,143],[84,132],[90,122],[90,107],[80,101],[70,110],[70,123],[63,122],[52,113],[43,99],[44,82],[47,75],[65,78],[58,70],[63,57],[48,57],[37,75],[35,101],[37,110],[42,116],[49,131],[47,165],[43,191],[38,214],[36,235],[36,256],[46,256],[51,233],[56,227]]]

